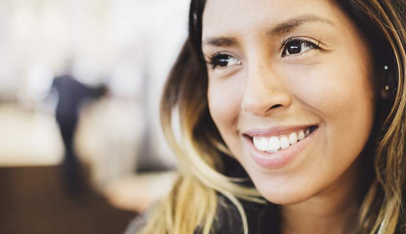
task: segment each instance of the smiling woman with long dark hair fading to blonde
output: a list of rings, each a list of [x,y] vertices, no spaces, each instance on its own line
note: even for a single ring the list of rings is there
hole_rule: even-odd
[[[180,177],[140,233],[406,233],[405,5],[192,0]]]

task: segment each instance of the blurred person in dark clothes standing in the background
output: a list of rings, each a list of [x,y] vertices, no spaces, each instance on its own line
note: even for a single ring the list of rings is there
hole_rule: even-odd
[[[71,75],[55,77],[52,87],[59,94],[59,101],[56,106],[56,122],[65,147],[62,175],[67,185],[67,191],[78,196],[83,189],[83,171],[75,153],[73,139],[79,121],[80,106],[87,99],[103,96],[106,93],[106,88],[105,86],[87,87]]]

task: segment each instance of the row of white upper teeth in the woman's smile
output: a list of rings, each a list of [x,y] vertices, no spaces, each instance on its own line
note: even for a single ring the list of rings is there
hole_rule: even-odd
[[[310,135],[310,129],[292,132],[289,135],[267,137],[253,137],[254,146],[270,153],[278,152],[280,148],[286,149],[297,141],[301,141]]]

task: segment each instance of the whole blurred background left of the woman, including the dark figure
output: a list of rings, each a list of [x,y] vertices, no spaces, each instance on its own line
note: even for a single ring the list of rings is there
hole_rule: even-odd
[[[123,233],[170,187],[189,0],[0,0],[0,233]]]

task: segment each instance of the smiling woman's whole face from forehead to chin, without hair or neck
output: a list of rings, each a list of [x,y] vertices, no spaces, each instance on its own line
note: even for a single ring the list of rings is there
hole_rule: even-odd
[[[353,168],[373,125],[368,48],[333,1],[207,1],[210,112],[265,199],[308,200]]]

